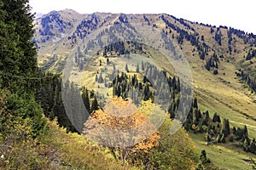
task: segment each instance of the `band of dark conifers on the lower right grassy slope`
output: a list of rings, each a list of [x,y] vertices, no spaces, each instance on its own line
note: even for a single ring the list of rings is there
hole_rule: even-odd
[[[214,113],[213,117],[209,117],[209,112],[203,112],[194,105],[192,105],[186,122],[183,123],[183,127],[187,131],[193,131],[194,133],[205,133],[205,140],[207,144],[216,143],[238,143],[243,150],[256,153],[255,139],[250,139],[247,126],[244,127],[230,127],[229,119],[224,119],[222,124],[221,118],[217,113]]]

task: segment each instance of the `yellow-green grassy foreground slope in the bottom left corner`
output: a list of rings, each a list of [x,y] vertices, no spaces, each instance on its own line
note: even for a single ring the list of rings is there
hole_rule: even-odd
[[[30,136],[12,144],[0,141],[0,168],[4,169],[138,169],[116,161],[110,150],[77,133],[67,133],[56,120],[48,121],[48,133],[32,139]],[[24,124],[23,132],[29,132]]]

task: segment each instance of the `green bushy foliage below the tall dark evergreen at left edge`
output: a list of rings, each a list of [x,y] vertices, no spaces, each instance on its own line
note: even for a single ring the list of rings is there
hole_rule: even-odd
[[[12,127],[12,122],[19,124],[18,122],[21,121],[21,124],[29,124],[32,136],[34,137],[44,133],[47,129],[43,110],[32,94],[11,94],[8,90],[1,89],[1,98],[1,106],[4,109],[1,113],[1,132],[5,137],[8,136],[7,133],[14,132],[13,130],[15,130],[9,129],[9,127]],[[18,122],[15,122],[15,120]]]

